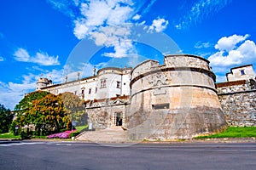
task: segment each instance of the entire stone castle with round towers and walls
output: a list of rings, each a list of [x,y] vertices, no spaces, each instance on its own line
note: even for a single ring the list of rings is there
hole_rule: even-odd
[[[102,68],[81,79],[78,74],[72,82],[39,78],[37,90],[78,95],[94,129],[123,127],[132,140],[191,139],[222,131],[227,124],[255,126],[255,105],[248,113],[234,99],[244,94],[248,105],[255,103],[253,65],[232,68],[228,82],[215,84],[215,79],[207,59],[172,54],[163,65],[148,59],[133,69]],[[234,113],[234,102],[241,112]]]

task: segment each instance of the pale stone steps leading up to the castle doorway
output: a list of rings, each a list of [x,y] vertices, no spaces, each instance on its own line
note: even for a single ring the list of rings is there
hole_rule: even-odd
[[[85,131],[75,140],[85,140],[96,143],[125,143],[128,142],[128,131],[123,130],[122,127],[108,127],[106,129],[96,131]]]

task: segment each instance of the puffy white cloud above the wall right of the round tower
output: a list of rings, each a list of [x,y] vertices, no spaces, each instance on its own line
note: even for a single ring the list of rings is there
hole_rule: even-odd
[[[255,63],[256,45],[245,36],[222,37],[218,40],[215,48],[218,50],[208,59],[215,72],[228,70],[235,65],[247,65]]]

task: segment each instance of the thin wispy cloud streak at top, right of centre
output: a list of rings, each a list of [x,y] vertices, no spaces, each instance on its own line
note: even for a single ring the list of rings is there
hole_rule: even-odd
[[[187,28],[192,24],[201,22],[207,18],[209,14],[216,13],[224,8],[232,0],[198,0],[189,10],[184,14],[181,20],[175,26],[177,29]]]

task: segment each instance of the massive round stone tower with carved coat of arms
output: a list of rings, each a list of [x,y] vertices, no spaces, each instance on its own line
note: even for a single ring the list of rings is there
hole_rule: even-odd
[[[209,61],[190,54],[146,60],[131,71],[130,139],[191,139],[224,130]]]

